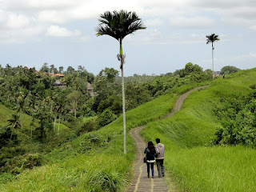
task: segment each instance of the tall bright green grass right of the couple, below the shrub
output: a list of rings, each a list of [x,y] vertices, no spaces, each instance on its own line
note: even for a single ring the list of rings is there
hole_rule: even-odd
[[[166,167],[183,190],[256,191],[255,150],[244,146],[196,147],[166,156]]]

